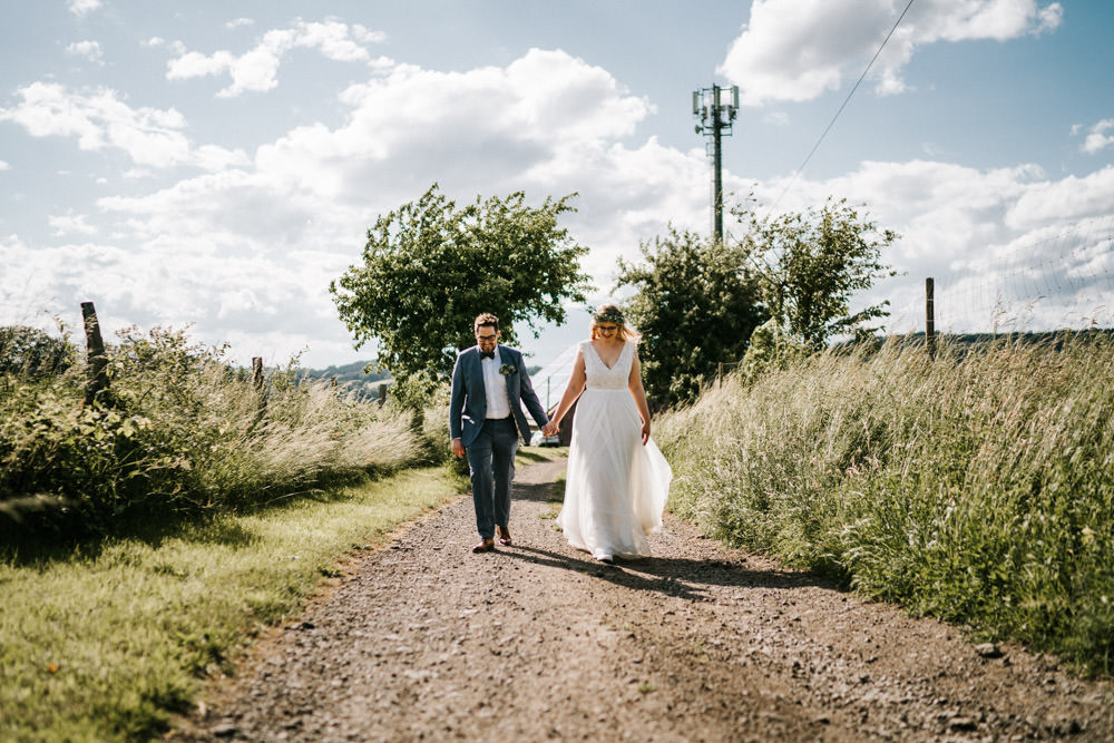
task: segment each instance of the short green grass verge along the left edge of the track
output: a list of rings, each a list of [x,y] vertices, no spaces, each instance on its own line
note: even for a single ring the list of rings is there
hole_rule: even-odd
[[[0,739],[147,740],[351,549],[467,489],[448,468],[0,563]]]

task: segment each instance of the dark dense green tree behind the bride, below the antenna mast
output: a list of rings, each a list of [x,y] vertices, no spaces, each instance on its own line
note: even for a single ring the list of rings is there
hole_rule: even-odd
[[[655,404],[693,400],[717,364],[739,361],[765,319],[754,277],[737,245],[672,226],[642,245],[643,263],[619,261],[617,286],[637,293],[625,304],[642,333],[646,392]]]

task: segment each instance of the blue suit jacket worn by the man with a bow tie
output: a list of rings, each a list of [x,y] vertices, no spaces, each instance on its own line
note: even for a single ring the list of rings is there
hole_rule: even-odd
[[[538,427],[548,422],[546,409],[541,407],[538,395],[530,384],[530,375],[526,373],[522,354],[515,349],[500,344],[499,359],[501,365],[510,365],[515,371],[504,377],[507,380],[507,395],[510,398],[510,412],[518,434],[522,441],[530,442],[530,424],[522,412],[522,404],[534,417]],[[473,345],[457,355],[457,364],[452,368],[452,395],[449,399],[449,437],[460,439],[468,447],[479,434],[487,419],[487,392],[483,389],[483,371],[480,369],[480,349]]]

